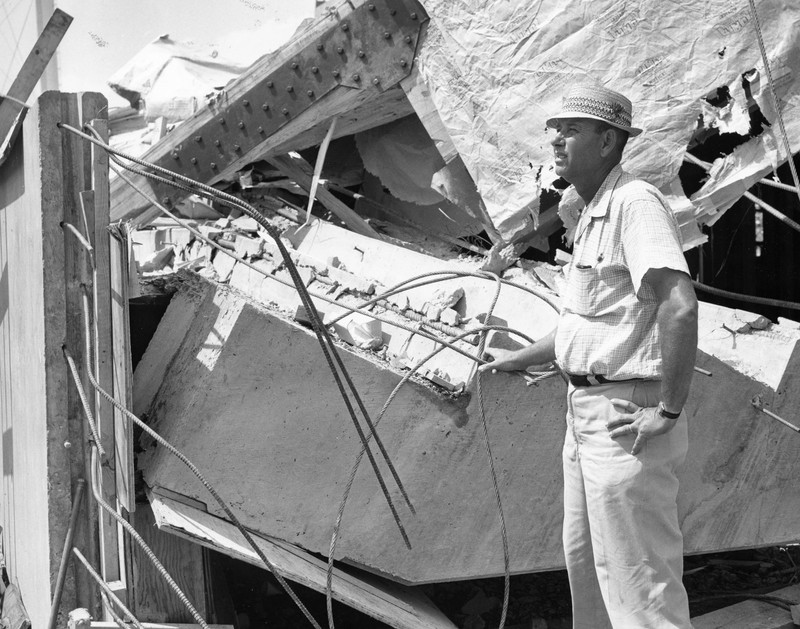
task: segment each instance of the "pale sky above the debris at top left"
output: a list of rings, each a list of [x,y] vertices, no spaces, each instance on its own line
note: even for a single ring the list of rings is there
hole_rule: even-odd
[[[0,0],[2,91],[38,35],[36,4]],[[52,0],[43,4],[52,6]],[[207,44],[220,56],[251,63],[313,17],[315,0],[55,0],[55,6],[73,17],[58,48],[59,89],[103,92],[118,106],[127,102],[108,88],[107,79],[159,36]]]

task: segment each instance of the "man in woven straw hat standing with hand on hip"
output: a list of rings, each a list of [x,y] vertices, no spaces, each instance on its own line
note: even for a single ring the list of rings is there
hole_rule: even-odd
[[[620,167],[632,107],[572,88],[547,121],[555,172],[586,204],[556,330],[481,370],[555,360],[569,378],[564,552],[576,629],[688,629],[676,468],[697,347],[697,300],[659,192]]]

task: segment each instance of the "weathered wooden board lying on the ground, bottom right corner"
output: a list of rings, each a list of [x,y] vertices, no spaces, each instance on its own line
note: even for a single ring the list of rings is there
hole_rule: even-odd
[[[775,596],[800,603],[800,585],[768,592]],[[692,618],[694,629],[792,629],[792,615],[788,610],[756,599],[742,601],[729,607]]]

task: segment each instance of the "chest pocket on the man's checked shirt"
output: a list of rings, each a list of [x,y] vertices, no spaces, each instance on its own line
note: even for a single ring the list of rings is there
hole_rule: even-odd
[[[584,317],[598,317],[619,308],[623,289],[630,276],[622,267],[582,266],[570,269],[564,305]]]

